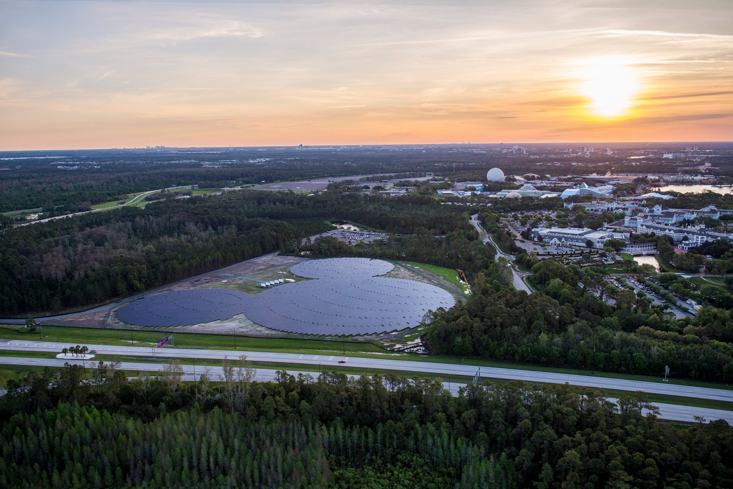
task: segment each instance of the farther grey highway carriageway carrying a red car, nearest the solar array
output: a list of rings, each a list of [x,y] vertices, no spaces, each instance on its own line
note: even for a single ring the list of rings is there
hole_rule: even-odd
[[[75,346],[60,342],[21,342],[0,339],[0,350],[15,351],[47,351],[60,353],[62,348]],[[114,356],[152,356],[153,349],[147,347],[86,345],[90,350],[97,350],[100,355]],[[374,359],[361,357],[345,357],[338,355],[301,355],[298,353],[278,353],[244,350],[199,350],[191,348],[155,348],[155,356],[180,359],[230,359],[246,355],[251,361],[267,361],[273,363],[336,365],[339,360],[346,359],[349,367],[378,370],[403,370],[407,372],[426,372],[444,375],[467,375],[473,377],[479,370],[476,365],[440,364],[431,361],[409,361],[393,359]],[[504,369],[496,367],[480,367],[482,378],[503,380],[524,380],[537,383],[570,383],[573,386],[598,387],[602,389],[618,389],[622,391],[644,391],[649,394],[666,394],[671,396],[695,397],[698,399],[714,399],[733,402],[733,390],[711,389],[707,387],[682,386],[674,383],[643,382],[616,378],[594,377],[591,375],[569,375],[554,372],[536,372],[534,370]]]

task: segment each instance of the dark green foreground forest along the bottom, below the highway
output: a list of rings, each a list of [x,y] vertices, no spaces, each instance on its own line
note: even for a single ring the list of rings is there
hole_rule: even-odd
[[[567,385],[394,375],[30,373],[0,398],[4,488],[724,488],[733,430]],[[237,368],[234,368],[237,366]],[[87,370],[92,370],[89,367]],[[228,372],[228,373],[227,373]],[[647,415],[641,409],[649,408]]]

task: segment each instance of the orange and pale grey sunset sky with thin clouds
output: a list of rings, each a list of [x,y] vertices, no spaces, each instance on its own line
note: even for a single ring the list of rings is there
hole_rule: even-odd
[[[733,0],[0,0],[0,150],[732,139]]]

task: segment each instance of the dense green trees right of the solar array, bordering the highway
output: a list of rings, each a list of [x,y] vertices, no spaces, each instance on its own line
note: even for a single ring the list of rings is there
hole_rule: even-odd
[[[614,306],[589,287],[600,273],[553,260],[532,268],[531,295],[509,287],[501,269],[479,273],[465,304],[436,314],[425,336],[435,353],[555,367],[733,381],[733,316],[704,308],[675,320],[630,290]]]

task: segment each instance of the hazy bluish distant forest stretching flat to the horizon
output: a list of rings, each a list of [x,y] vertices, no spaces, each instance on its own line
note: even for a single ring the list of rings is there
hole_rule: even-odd
[[[472,144],[471,147],[446,144],[1,152],[0,158],[4,161],[0,172],[0,213],[34,208],[68,213],[119,200],[126,194],[174,185],[223,188],[322,177],[424,172],[448,177],[454,182],[482,181],[493,166],[514,174],[537,172],[537,165],[542,164],[548,165],[543,172],[556,175],[572,174],[577,169],[572,158],[557,161],[548,147],[540,148],[540,155],[531,157],[492,151],[495,149],[496,145],[491,144]],[[596,165],[605,172],[608,159],[608,155],[600,154],[580,158],[589,172]],[[662,158],[649,158],[641,163],[631,163],[625,158],[611,159],[617,172],[652,174],[668,171],[669,165],[669,161]],[[710,171],[733,175],[730,159],[727,156],[710,158],[712,165],[719,167]],[[496,185],[494,188],[488,185],[488,188],[499,190],[512,186]],[[694,199],[695,203],[699,201],[698,197]]]

